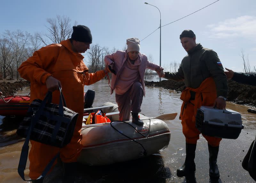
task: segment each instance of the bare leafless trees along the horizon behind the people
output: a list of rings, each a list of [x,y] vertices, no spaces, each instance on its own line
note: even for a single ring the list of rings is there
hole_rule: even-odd
[[[28,33],[21,30],[9,31],[0,33],[0,80],[1,79],[17,79],[20,77],[17,69],[20,64],[32,56],[33,53],[43,46],[60,43],[62,40],[69,39],[72,34],[73,25],[77,25],[75,22],[71,25],[71,19],[65,16],[56,18],[47,18],[48,23],[46,33]],[[126,50],[126,45],[121,49]],[[92,45],[86,52],[84,62],[88,66],[90,72],[96,72],[102,70],[105,67],[104,57],[105,55],[115,53],[117,49],[114,47],[109,49],[108,47],[100,46],[99,44]],[[243,50],[241,50],[244,61],[245,73],[251,73],[248,57],[245,58]],[[148,61],[153,62],[152,55],[147,55]],[[176,72],[180,66],[180,63],[176,61],[170,62],[168,65],[164,65],[164,71]],[[255,67],[254,67],[255,70]],[[256,71],[256,70],[255,70]],[[152,75],[156,75],[155,71],[146,70],[145,79],[150,78]]]

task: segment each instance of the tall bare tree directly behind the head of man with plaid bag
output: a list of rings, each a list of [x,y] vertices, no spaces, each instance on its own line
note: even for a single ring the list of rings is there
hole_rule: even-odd
[[[52,43],[59,44],[62,40],[71,37],[73,29],[69,17],[57,15],[57,18],[47,18],[46,21],[49,24],[49,26],[46,26],[48,33],[43,34],[46,39],[41,34],[37,35],[44,45],[48,45],[47,39]],[[76,22],[74,25],[76,25]]]

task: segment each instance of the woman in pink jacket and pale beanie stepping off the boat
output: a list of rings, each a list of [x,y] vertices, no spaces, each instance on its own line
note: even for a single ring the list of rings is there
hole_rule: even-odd
[[[105,63],[112,72],[111,94],[115,90],[118,105],[119,120],[129,120],[132,111],[132,122],[143,125],[138,113],[143,96],[145,96],[144,74],[146,69],[155,70],[162,77],[164,68],[148,62],[146,55],[140,53],[140,40],[126,40],[126,51],[105,56]]]

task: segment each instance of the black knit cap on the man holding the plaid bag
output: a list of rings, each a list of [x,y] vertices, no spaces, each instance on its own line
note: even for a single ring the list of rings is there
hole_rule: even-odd
[[[90,29],[86,26],[73,26],[73,33],[71,35],[71,39],[86,43],[92,43],[92,34]]]

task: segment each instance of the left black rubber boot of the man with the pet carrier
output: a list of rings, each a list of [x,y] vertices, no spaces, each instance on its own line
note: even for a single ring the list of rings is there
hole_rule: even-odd
[[[196,144],[190,144],[186,143],[186,159],[185,163],[178,168],[177,170],[177,176],[178,177],[192,177],[193,175],[195,176],[195,171],[196,171],[196,164],[195,164],[195,153],[196,151]]]

